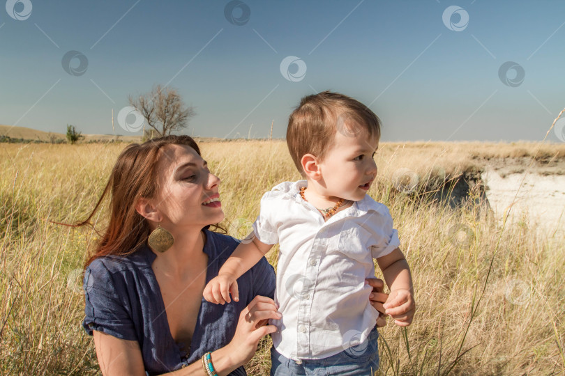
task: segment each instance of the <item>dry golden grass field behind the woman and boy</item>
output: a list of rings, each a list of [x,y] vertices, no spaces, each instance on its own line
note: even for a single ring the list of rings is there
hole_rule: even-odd
[[[96,234],[48,220],[84,219],[124,146],[0,144],[0,374],[100,374],[80,327],[81,267]],[[230,235],[245,235],[264,191],[299,178],[282,141],[201,147],[223,181]],[[382,143],[375,159],[369,194],[391,210],[418,307],[407,329],[380,330],[377,374],[564,375],[565,239],[493,218],[478,191],[455,209],[419,193],[488,161],[565,173],[565,146]],[[410,193],[398,191],[401,169],[419,176]],[[268,256],[274,263],[276,249]],[[269,345],[262,341],[249,375],[268,375]]]

